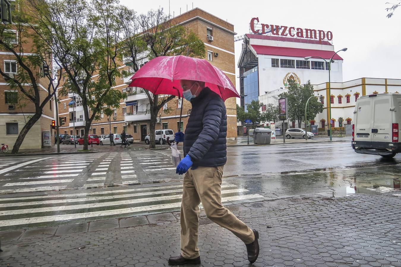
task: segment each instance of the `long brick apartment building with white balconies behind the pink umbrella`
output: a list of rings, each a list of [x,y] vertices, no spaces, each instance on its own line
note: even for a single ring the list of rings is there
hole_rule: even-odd
[[[205,58],[209,60],[217,68],[223,70],[235,85],[235,59],[234,59],[234,26],[212,14],[209,14],[199,8],[192,9],[180,16],[172,19],[175,24],[190,28],[195,34],[203,40],[207,50]],[[139,59],[140,65],[148,62],[148,58]],[[120,69],[132,72],[129,66],[122,65]],[[134,137],[134,140],[144,141],[146,135],[149,134],[150,113],[149,100],[141,88],[128,87],[131,77],[116,77],[115,88],[119,88],[122,92],[128,94],[127,99],[122,99],[120,108],[114,110],[114,116],[101,115],[101,119],[93,121],[90,134],[108,134],[121,133],[126,130],[128,134]],[[62,78],[64,79],[64,78]],[[63,84],[61,81],[60,86]],[[76,96],[78,97],[78,96]],[[85,118],[83,116],[83,107],[77,98],[77,104],[69,105],[72,100],[72,94],[69,97],[61,97],[59,104],[59,116],[65,117],[65,126],[60,127],[60,133],[69,135],[83,135],[85,127]],[[167,103],[167,107],[172,110],[165,114],[161,110],[160,121],[156,124],[156,130],[160,127],[164,129],[172,129],[174,132],[179,127],[181,100],[171,100]],[[227,138],[237,138],[237,110],[235,98],[229,98],[225,101],[227,107]],[[164,107],[166,108],[166,106]],[[191,104],[184,100],[182,109],[181,128],[185,129],[190,113]],[[109,121],[110,120],[110,121]],[[75,124],[75,132],[73,125]]]

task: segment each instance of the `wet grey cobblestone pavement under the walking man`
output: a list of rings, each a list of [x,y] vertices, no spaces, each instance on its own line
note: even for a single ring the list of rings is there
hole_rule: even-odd
[[[230,209],[259,230],[261,252],[254,266],[397,267],[400,200],[394,192],[355,194],[292,205],[261,201]],[[179,214],[171,215],[144,225],[79,234],[79,229],[65,235],[15,234],[17,240],[2,242],[0,266],[168,266],[168,257],[180,252]],[[202,266],[250,266],[241,241],[214,223],[202,223]]]

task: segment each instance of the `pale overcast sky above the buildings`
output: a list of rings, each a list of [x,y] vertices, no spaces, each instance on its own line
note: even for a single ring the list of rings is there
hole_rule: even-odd
[[[234,24],[238,35],[249,32],[249,21],[259,17],[265,24],[330,30],[336,50],[344,58],[343,80],[361,77],[401,79],[401,7],[387,18],[386,2],[391,0],[282,0],[282,1],[182,1],[170,0],[170,12],[175,15],[193,7],[201,8]],[[398,0],[394,0],[399,2]],[[393,2],[394,2],[393,1]],[[168,0],[132,1],[121,3],[138,13],[163,7],[168,13]],[[241,53],[241,42],[235,44],[235,64]],[[238,73],[238,69],[236,70]]]

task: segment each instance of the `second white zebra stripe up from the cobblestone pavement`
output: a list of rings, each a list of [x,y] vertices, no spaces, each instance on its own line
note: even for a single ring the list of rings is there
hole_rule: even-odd
[[[123,183],[140,183],[138,180],[135,181],[123,181]],[[242,193],[248,192],[247,189],[226,189],[222,190],[222,194],[231,194],[231,193]],[[30,205],[47,205],[47,204],[58,204],[58,203],[74,203],[74,202],[86,202],[86,201],[98,201],[104,199],[116,199],[116,198],[127,198],[127,197],[140,197],[140,196],[148,196],[148,195],[160,195],[160,194],[170,194],[170,193],[182,193],[182,189],[174,189],[174,190],[164,190],[164,191],[153,191],[153,192],[142,192],[142,193],[132,193],[132,194],[125,194],[125,195],[111,195],[111,196],[103,196],[103,197],[84,197],[84,198],[73,198],[73,199],[52,199],[52,200],[44,200],[44,201],[30,201],[30,202],[16,202],[16,203],[0,203],[0,207],[17,207],[17,206],[30,206]],[[180,195],[182,196],[182,195]],[[145,198],[148,199],[148,198]],[[107,202],[102,202],[107,203]],[[101,203],[97,203],[101,204]],[[86,204],[91,205],[91,204]],[[67,205],[68,206],[68,205]],[[56,208],[56,207],[51,207]],[[21,211],[21,210],[20,210]],[[38,212],[40,212],[38,210]],[[0,215],[2,211],[0,211]],[[25,213],[21,211],[20,213]],[[30,213],[30,212],[27,212]],[[18,213],[16,213],[18,214]]]

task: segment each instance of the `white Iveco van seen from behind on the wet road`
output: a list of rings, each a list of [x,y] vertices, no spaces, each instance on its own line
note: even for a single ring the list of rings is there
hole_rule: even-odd
[[[371,94],[356,100],[352,148],[356,153],[392,158],[401,152],[401,94]]]

